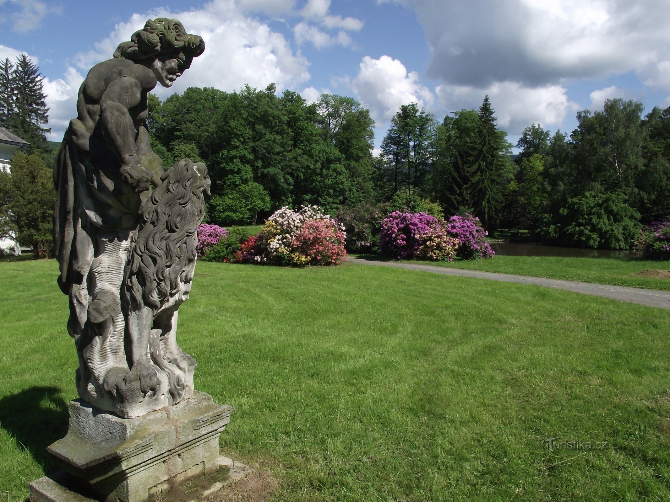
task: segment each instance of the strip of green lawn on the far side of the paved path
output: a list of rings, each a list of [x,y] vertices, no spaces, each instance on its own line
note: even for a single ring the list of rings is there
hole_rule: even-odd
[[[371,260],[388,260],[382,256],[370,254],[352,254]],[[631,276],[642,270],[670,270],[670,262],[652,260],[626,260],[622,258],[562,258],[555,256],[494,256],[488,260],[468,260],[453,262],[422,262],[403,260],[407,263],[448,266],[500,272],[502,274],[547,277],[552,279],[579,280],[614,286],[631,286],[670,290],[670,279]]]

